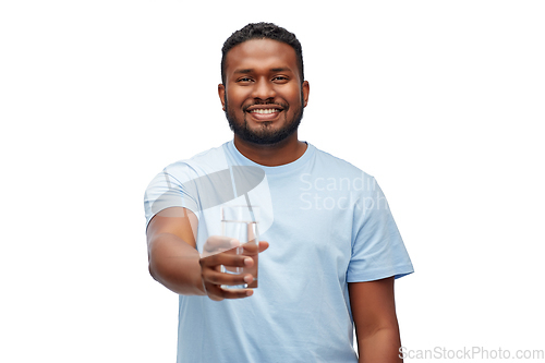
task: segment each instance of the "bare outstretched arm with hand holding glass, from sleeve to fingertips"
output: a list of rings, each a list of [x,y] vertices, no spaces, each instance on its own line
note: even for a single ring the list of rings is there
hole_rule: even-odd
[[[251,267],[253,258],[237,255],[233,247],[239,245],[238,241],[232,244],[232,239],[226,237],[210,237],[201,255],[195,242],[197,227],[195,214],[181,207],[164,209],[152,218],[147,228],[152,276],[168,289],[184,295],[206,294],[216,301],[252,295],[252,289],[221,289],[221,285],[241,285],[245,277],[253,277],[250,274],[222,274],[220,266]],[[259,252],[267,250],[268,245],[259,242]],[[256,245],[244,245],[246,251],[252,247],[257,250]]]

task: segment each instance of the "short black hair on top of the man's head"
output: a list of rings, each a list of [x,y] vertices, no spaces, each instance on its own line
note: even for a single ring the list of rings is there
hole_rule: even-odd
[[[298,60],[299,74],[301,75],[301,83],[304,81],[303,73],[303,48],[301,43],[299,43],[295,34],[288,32],[281,26],[275,25],[272,23],[250,23],[242,29],[234,32],[231,36],[223,43],[221,48],[221,83],[226,84],[226,58],[229,50],[234,46],[240,45],[250,39],[272,39],[281,43],[286,43],[295,50],[295,57]]]

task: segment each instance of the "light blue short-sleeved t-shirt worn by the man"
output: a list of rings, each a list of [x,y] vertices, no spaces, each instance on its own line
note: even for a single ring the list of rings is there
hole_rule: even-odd
[[[220,206],[247,203],[270,244],[259,287],[241,300],[180,295],[177,362],[356,363],[348,282],[413,271],[375,179],[311,144],[264,167],[231,141],[165,168],[146,190],[146,223],[164,208],[191,209],[201,252],[220,234]]]

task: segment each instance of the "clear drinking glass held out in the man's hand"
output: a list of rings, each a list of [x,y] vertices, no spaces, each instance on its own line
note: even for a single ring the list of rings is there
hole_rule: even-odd
[[[252,274],[254,280],[243,285],[222,285],[222,289],[255,289],[257,288],[257,261],[259,250],[259,233],[257,229],[259,208],[257,206],[238,205],[221,207],[221,235],[240,241],[241,246],[226,253],[250,256],[254,259],[252,267],[221,266],[221,273]]]

